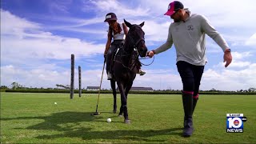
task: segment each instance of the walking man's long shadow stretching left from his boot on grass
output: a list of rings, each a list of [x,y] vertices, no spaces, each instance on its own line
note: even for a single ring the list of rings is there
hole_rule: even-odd
[[[90,128],[78,128],[77,130],[65,131],[63,134],[41,135],[37,138],[54,139],[54,138],[82,138],[84,140],[134,140],[140,142],[166,142],[159,138],[152,138],[159,135],[182,135],[181,128],[172,128],[165,130],[104,130],[92,131]]]

